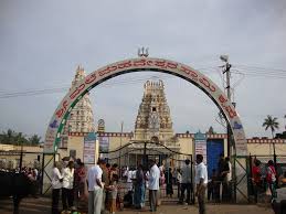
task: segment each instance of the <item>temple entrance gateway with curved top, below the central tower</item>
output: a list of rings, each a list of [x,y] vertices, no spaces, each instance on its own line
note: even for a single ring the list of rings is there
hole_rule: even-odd
[[[142,164],[144,170],[148,169],[148,165],[150,164],[150,160],[155,160],[159,168],[163,169],[165,172],[168,171],[169,168],[173,169],[172,173],[172,190],[173,190],[173,197],[172,200],[166,197],[166,185],[160,185],[160,190],[158,192],[158,195],[160,195],[161,202],[177,202],[178,195],[180,192],[180,185],[177,183],[177,170],[181,169],[182,165],[184,165],[186,159],[189,159],[191,161],[191,195],[190,200],[191,203],[194,203],[194,182],[193,182],[193,170],[194,170],[194,160],[193,156],[191,153],[182,153],[179,152],[179,148],[170,148],[163,143],[160,143],[158,141],[130,141],[126,143],[125,146],[117,148],[116,150],[103,152],[103,154],[107,154],[108,158],[106,158],[107,162],[118,163],[121,162],[123,164],[123,171],[120,173],[121,178],[121,192],[127,193],[128,188],[127,182],[127,171],[135,171],[137,169],[137,164]],[[119,161],[121,159],[121,161]],[[167,179],[167,174],[165,173],[165,180]],[[146,194],[146,201],[148,201],[148,194]]]

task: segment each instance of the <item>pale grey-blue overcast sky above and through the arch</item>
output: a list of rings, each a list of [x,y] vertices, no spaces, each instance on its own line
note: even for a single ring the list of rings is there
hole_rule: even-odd
[[[246,136],[269,137],[262,127],[267,115],[285,130],[285,38],[284,0],[1,0],[0,131],[43,138],[77,65],[89,74],[137,57],[145,46],[150,57],[184,63],[222,88],[220,55],[229,55],[232,96]],[[103,118],[106,131],[120,131],[123,121],[124,131],[133,131],[148,79],[163,81],[174,132],[210,126],[225,131],[205,94],[153,72],[120,75],[95,87],[89,95],[95,122]]]

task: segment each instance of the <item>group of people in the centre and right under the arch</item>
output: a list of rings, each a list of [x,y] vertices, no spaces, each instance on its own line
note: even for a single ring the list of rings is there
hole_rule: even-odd
[[[128,189],[128,206],[134,205],[135,208],[145,206],[145,194],[149,190],[150,211],[157,211],[160,204],[162,190],[166,191],[167,197],[174,194],[173,184],[178,185],[178,204],[191,204],[192,190],[192,167],[191,161],[187,159],[181,169],[166,168],[163,164],[158,167],[153,160],[150,161],[149,169],[144,169],[141,164],[137,169],[126,169],[123,173],[127,181]],[[194,182],[195,195],[198,196],[199,213],[205,213],[204,194],[208,184],[208,171],[203,163],[203,157],[197,156],[197,168]],[[187,192],[187,194],[186,194]],[[128,201],[128,200],[126,200]]]

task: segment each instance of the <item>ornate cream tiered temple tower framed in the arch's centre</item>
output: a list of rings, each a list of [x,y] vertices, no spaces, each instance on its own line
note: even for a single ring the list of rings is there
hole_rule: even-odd
[[[135,122],[135,140],[152,140],[166,143],[173,138],[170,108],[165,96],[163,82],[147,81]]]

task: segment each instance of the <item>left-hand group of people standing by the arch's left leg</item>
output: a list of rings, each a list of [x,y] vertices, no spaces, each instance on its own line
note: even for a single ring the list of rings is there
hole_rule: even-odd
[[[119,189],[118,165],[98,160],[88,170],[81,159],[55,162],[52,173],[52,213],[59,214],[60,195],[62,213],[88,210],[88,213],[115,213]],[[86,203],[87,202],[87,203]]]

